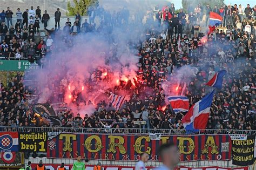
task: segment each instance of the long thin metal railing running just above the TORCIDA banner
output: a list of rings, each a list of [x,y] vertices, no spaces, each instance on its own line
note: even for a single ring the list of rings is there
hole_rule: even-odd
[[[18,127],[2,126],[0,132],[66,132],[66,133],[97,133],[97,134],[255,134],[256,131],[246,130],[198,130],[198,132],[185,129],[144,129],[144,128],[76,128],[76,127]]]

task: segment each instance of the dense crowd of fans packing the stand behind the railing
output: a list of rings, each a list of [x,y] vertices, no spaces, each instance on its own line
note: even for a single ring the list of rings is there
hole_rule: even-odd
[[[212,6],[213,7],[213,6]],[[138,128],[134,121],[145,121],[143,128],[183,129],[181,119],[185,113],[174,114],[170,105],[166,105],[165,93],[161,86],[164,81],[172,80],[176,71],[184,66],[197,67],[198,72],[186,86],[184,94],[190,99],[190,104],[199,101],[211,88],[205,86],[215,72],[225,69],[222,90],[214,96],[208,119],[208,129],[220,130],[255,130],[255,26],[256,5],[246,8],[241,5],[193,6],[190,4],[186,13],[180,9],[177,13],[174,4],[164,5],[161,9],[156,6],[146,14],[143,36],[138,40],[139,68],[136,87],[129,86],[131,99],[125,101],[119,110],[114,110],[108,101],[100,101],[93,114],[86,113],[81,117],[72,110],[58,113],[63,127],[105,127],[105,128]],[[207,35],[207,25],[210,11],[223,17],[223,24]],[[12,25],[12,16],[16,15],[17,22]],[[142,15],[137,13],[136,16]],[[54,53],[57,35],[62,35],[66,46],[72,43],[72,37],[101,30],[110,30],[117,25],[129,23],[129,10],[124,8],[116,13],[110,13],[103,8],[89,10],[89,21],[79,13],[76,22],[68,21],[60,28],[59,9],[55,12],[55,29],[47,29],[50,16],[47,11],[41,17],[39,6],[33,10],[16,14],[9,8],[0,13],[1,46],[0,55],[6,60],[28,59],[39,65],[47,63]],[[94,18],[99,17],[96,26]],[[39,22],[44,23],[47,37],[39,36]],[[83,24],[82,24],[83,22]],[[140,17],[133,22],[142,24]],[[7,25],[6,25],[7,24]],[[107,28],[107,29],[106,29]],[[104,31],[103,31],[104,32]],[[110,32],[104,32],[111,35]],[[207,38],[206,38],[207,37]],[[59,36],[58,36],[59,38]],[[178,43],[180,40],[180,43]],[[91,74],[90,85],[101,79],[103,72],[96,70]],[[0,94],[0,126],[39,126],[39,118],[31,112],[31,94],[39,94],[34,86],[24,85],[24,75],[17,72],[8,84],[1,85]],[[53,82],[59,89],[60,80]],[[53,88],[55,88],[53,87]],[[125,86],[116,87],[115,90]],[[182,89],[182,87],[181,87]],[[150,93],[147,93],[149,92]],[[112,91],[114,92],[114,91]],[[56,90],[50,98],[50,103],[63,102],[64,92]],[[90,105],[90,101],[85,102]],[[84,113],[82,113],[84,114]]]

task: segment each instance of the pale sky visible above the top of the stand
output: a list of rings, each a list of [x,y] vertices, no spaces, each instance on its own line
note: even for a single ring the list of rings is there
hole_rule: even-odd
[[[193,2],[193,0],[191,0],[191,2]],[[171,3],[174,3],[176,6],[176,9],[180,9],[182,4],[181,4],[181,0],[171,0]],[[256,1],[255,0],[224,0],[225,4],[241,4],[242,6],[246,7],[247,4],[250,4],[251,7],[253,7],[254,5],[256,5]]]

